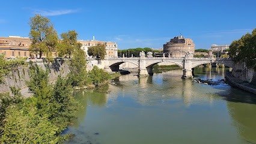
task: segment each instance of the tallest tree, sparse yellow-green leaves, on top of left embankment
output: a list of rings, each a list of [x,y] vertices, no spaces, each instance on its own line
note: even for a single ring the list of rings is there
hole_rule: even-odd
[[[32,42],[29,51],[39,54],[40,58],[44,54],[51,57],[58,43],[58,34],[50,23],[50,19],[35,14],[34,17],[30,17],[29,26],[31,28],[29,38]]]

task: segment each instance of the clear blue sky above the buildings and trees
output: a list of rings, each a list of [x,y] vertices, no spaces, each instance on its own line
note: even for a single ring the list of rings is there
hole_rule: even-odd
[[[29,18],[46,16],[61,34],[111,41],[118,49],[159,49],[171,38],[191,38],[195,49],[230,44],[256,28],[256,1],[11,1],[1,2],[0,37],[28,37]]]

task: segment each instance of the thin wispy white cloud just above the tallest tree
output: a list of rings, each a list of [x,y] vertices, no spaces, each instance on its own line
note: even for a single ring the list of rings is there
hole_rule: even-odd
[[[34,13],[41,14],[42,16],[59,16],[77,12],[78,10],[34,10]]]

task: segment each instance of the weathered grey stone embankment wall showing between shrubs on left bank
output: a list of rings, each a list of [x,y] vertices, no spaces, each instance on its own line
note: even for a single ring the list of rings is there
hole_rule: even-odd
[[[29,61],[26,61],[29,63]],[[44,70],[46,68],[49,68],[50,74],[49,74],[49,80],[53,81],[58,79],[58,75],[61,74],[62,77],[66,77],[69,73],[69,65],[67,61],[64,60],[57,60],[53,61],[52,63],[47,63],[45,61],[42,61],[41,59],[34,60],[35,64],[42,67]],[[10,73],[10,76],[8,76],[5,79],[5,82],[0,85],[0,93],[1,92],[9,92],[10,86],[15,86],[16,88],[26,88],[25,82],[26,80],[29,80],[29,65],[28,67],[20,67],[17,68],[17,70]]]

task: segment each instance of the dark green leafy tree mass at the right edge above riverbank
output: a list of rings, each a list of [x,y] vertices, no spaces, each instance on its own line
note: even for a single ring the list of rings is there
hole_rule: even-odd
[[[230,44],[230,57],[235,62],[245,62],[246,67],[256,67],[256,28]]]

